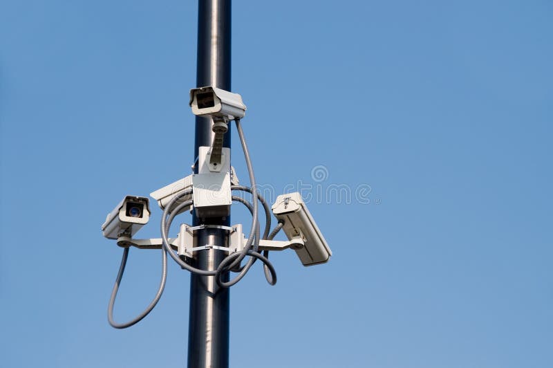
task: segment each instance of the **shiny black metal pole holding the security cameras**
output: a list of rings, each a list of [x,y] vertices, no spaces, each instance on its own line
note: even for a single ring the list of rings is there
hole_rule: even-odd
[[[230,0],[198,0],[198,60],[196,86],[216,86],[230,91]],[[213,142],[212,120],[196,117],[194,160],[198,147]],[[223,147],[230,147],[230,129]],[[197,173],[197,165],[194,171]],[[200,224],[193,215],[194,226]],[[230,218],[209,219],[210,224],[229,226]],[[224,230],[197,232],[198,244],[227,246]],[[196,252],[196,267],[214,270],[225,253],[220,250]],[[227,276],[228,277],[228,276]],[[214,277],[191,275],[188,332],[188,368],[229,366],[229,290],[218,288]]]

